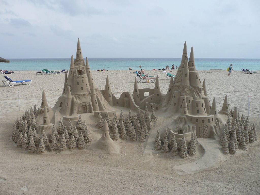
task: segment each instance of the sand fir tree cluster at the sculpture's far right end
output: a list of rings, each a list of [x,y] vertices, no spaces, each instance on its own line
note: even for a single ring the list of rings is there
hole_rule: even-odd
[[[244,114],[240,117],[238,112],[238,122],[236,123],[234,120],[231,126],[231,120],[228,116],[220,138],[224,153],[235,154],[238,148],[246,150],[249,142],[254,141],[257,141],[256,127],[254,124],[250,126],[248,117],[245,118]]]

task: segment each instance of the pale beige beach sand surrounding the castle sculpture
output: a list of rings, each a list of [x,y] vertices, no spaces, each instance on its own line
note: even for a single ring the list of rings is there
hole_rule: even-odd
[[[92,71],[92,75],[99,89],[103,89],[108,74],[112,92],[119,97],[124,91],[133,92],[133,72]],[[176,72],[173,70],[172,74]],[[161,70],[148,70],[146,73],[160,76],[160,88],[166,94],[170,83],[166,73]],[[235,71],[227,76],[228,72],[224,70],[199,70],[199,74],[200,79],[206,80],[210,101],[216,97],[218,110],[227,94],[230,109],[237,106],[241,114],[247,115],[250,94],[250,123],[255,123],[260,138],[260,74]],[[215,167],[205,165],[202,171],[194,171],[198,160],[209,154],[198,153],[195,157],[181,159],[160,151],[149,152],[145,149],[146,142],[129,140],[119,141],[119,154],[97,152],[94,143],[100,138],[101,130],[95,128],[97,119],[90,116],[85,119],[88,119],[93,141],[85,149],[29,154],[11,141],[13,122],[35,103],[40,106],[42,90],[45,90],[48,105],[53,107],[62,94],[65,75],[16,71],[8,76],[12,80],[32,79],[33,83],[14,87],[0,85],[0,194],[260,194],[259,140],[249,144],[247,152],[240,150],[236,155],[223,155],[221,146],[214,142],[219,160],[207,160]],[[154,83],[138,83],[139,89],[153,87]],[[20,92],[21,111],[17,90]],[[163,126],[164,117],[170,116],[157,116],[153,131]],[[147,143],[148,146],[151,143]],[[186,166],[186,172],[179,171],[178,165]]]

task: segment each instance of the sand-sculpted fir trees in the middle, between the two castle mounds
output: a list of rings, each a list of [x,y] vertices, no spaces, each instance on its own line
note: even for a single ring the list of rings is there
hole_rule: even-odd
[[[141,110],[138,107],[137,114],[135,113],[134,116],[131,112],[131,109],[129,109],[126,119],[122,110],[119,119],[115,114],[113,121],[111,121],[108,113],[105,119],[108,124],[109,133],[113,140],[118,140],[119,136],[121,139],[127,139],[129,136],[131,141],[136,141],[139,139],[140,141],[145,142],[151,130],[152,121],[156,120],[156,116],[154,109],[150,116],[147,107],[145,108],[144,114],[141,113]],[[103,127],[103,120],[100,113],[98,114],[96,127],[100,129]]]

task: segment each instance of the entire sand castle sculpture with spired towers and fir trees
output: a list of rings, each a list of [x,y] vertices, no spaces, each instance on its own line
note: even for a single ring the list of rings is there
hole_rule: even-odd
[[[118,119],[116,112],[121,107],[129,111],[125,117],[121,110]],[[171,116],[166,128],[154,129],[155,113]],[[97,88],[78,39],[76,58],[71,56],[69,74],[65,75],[55,106],[48,106],[43,91],[41,107],[37,109],[35,105],[26,110],[14,123],[12,140],[29,152],[84,149],[92,138],[81,114],[97,117],[96,128],[102,133],[95,144],[107,153],[118,153],[120,139],[146,142],[155,131],[154,150],[182,158],[196,155],[198,138],[220,139],[223,153],[231,154],[237,149],[246,150],[249,142],[257,141],[256,127],[250,126],[244,114],[240,117],[237,107],[230,111],[227,95],[220,111],[215,97],[210,103],[206,82],[201,82],[196,71],[193,47],[188,61],[186,42],[178,72],[174,80],[171,78],[166,94],[161,93],[157,76],[153,89],[138,89],[135,79],[133,93],[123,92],[116,98],[108,76],[105,89]]]

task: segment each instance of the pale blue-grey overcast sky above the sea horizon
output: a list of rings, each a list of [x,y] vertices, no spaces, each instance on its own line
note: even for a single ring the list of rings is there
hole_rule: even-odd
[[[0,0],[0,57],[260,58],[259,2]]]

